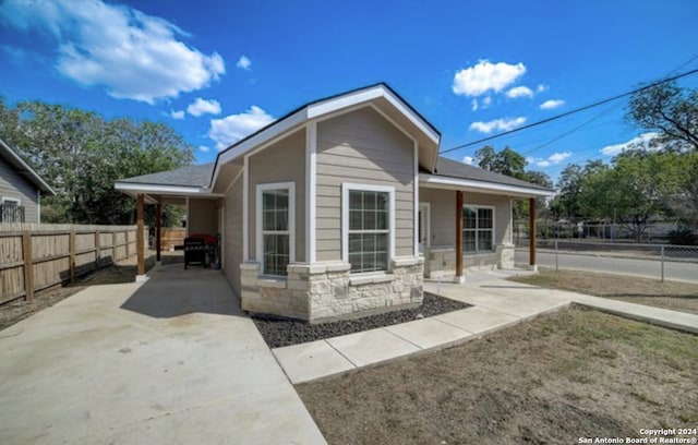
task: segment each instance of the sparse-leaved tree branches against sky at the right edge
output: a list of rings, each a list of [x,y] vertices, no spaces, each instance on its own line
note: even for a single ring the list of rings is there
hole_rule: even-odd
[[[665,149],[698,149],[698,89],[675,82],[653,86],[630,97],[626,119],[658,132],[655,144]]]

